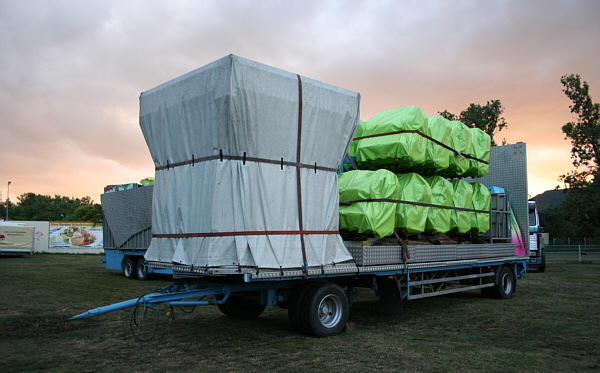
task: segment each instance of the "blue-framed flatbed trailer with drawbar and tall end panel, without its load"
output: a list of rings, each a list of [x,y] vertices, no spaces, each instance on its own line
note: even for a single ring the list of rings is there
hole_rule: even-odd
[[[510,158],[510,163],[505,158]],[[217,305],[227,316],[255,318],[266,306],[277,306],[288,310],[295,330],[324,337],[344,330],[355,288],[374,290],[379,297],[379,311],[391,314],[401,314],[405,301],[478,289],[484,297],[509,299],[529,261],[528,255],[515,254],[511,238],[515,230],[527,232],[528,228],[525,144],[494,147],[490,159],[495,161],[492,165],[510,167],[493,166],[490,174],[480,179],[488,185],[502,186],[493,188],[490,230],[477,238],[483,243],[416,245],[402,240],[396,244],[347,240],[344,245],[353,261],[320,268],[192,267],[145,262],[155,271],[172,273],[178,282],[139,298],[89,310],[73,319],[133,308],[131,331],[144,339],[141,335],[148,333],[141,330],[157,328],[158,310],[164,307],[171,308],[170,314],[174,315],[175,306],[187,312],[190,307]],[[147,246],[147,242],[133,243],[144,241],[140,238],[144,235],[150,237],[143,222],[148,212],[140,213],[139,208],[131,206],[151,204],[151,195],[152,189],[145,187],[108,196],[118,198],[116,205],[129,212],[124,216],[127,222],[116,225],[130,229],[122,232],[127,238],[123,247]],[[137,202],[132,203],[129,198]],[[511,228],[511,212],[519,228]],[[105,230],[105,234],[111,232]],[[528,248],[528,234],[515,233]],[[105,242],[114,241],[105,237]],[[148,312],[155,312],[154,317],[148,317]],[[155,332],[149,334],[153,336]]]

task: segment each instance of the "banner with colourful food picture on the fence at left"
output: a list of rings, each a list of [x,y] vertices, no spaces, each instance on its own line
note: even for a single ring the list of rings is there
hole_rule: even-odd
[[[49,248],[102,248],[102,225],[80,221],[51,221]]]

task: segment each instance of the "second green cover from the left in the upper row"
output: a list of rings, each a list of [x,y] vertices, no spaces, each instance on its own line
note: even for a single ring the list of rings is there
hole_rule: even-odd
[[[428,121],[428,135],[444,145],[451,146],[452,123],[441,115],[432,115]],[[439,172],[446,170],[450,165],[450,156],[453,152],[440,144],[427,140],[427,157],[424,168]]]

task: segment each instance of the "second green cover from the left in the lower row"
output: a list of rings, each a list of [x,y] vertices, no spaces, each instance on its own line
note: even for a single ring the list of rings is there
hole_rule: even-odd
[[[410,173],[398,175],[398,199],[407,202],[431,203],[431,187],[422,176]],[[399,203],[396,209],[396,228],[407,235],[425,231],[429,207]]]

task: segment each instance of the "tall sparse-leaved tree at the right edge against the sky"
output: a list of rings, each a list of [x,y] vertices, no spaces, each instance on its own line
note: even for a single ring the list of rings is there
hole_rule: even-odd
[[[578,74],[564,75],[560,79],[565,87],[563,92],[573,102],[569,106],[571,113],[577,115],[576,122],[562,126],[565,139],[573,145],[571,158],[576,168],[560,176],[570,188],[585,188],[598,178],[600,165],[600,104],[592,102],[587,82],[581,83]],[[577,168],[583,167],[583,170]]]

